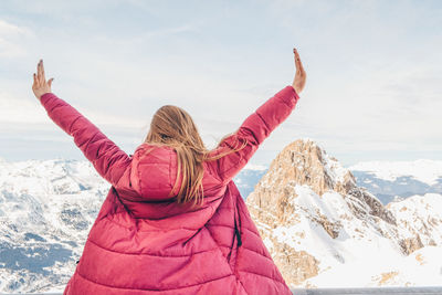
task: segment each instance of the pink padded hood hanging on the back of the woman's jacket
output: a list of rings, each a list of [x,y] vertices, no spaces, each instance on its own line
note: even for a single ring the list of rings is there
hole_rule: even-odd
[[[133,155],[130,183],[141,197],[151,201],[173,199],[181,186],[177,179],[178,158],[172,147],[141,144]],[[171,193],[169,197],[169,193]]]

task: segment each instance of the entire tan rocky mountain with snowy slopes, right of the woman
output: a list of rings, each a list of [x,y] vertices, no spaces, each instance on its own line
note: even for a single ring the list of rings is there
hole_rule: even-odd
[[[383,206],[313,140],[284,148],[246,203],[292,287],[442,285],[442,194]]]

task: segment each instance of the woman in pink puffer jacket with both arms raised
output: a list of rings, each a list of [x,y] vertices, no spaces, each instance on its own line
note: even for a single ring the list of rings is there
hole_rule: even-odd
[[[232,178],[295,108],[306,74],[207,150],[183,109],[159,108],[126,155],[51,93],[43,62],[32,89],[110,185],[64,294],[292,294]]]

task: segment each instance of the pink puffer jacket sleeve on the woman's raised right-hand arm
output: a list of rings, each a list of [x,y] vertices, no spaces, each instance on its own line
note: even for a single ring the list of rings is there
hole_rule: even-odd
[[[219,144],[215,155],[245,144],[243,149],[229,154],[213,164],[224,183],[248,164],[263,140],[288,117],[298,99],[299,96],[293,86],[284,87],[250,115],[233,135]]]

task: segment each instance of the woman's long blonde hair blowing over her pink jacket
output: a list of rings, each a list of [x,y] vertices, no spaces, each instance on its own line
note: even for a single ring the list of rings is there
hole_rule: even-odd
[[[220,140],[217,148],[208,150],[191,116],[178,106],[165,105],[154,114],[145,143],[152,146],[169,146],[177,151],[177,180],[170,193],[176,190],[179,177],[181,177],[177,201],[180,204],[193,201],[192,207],[194,207],[203,202],[202,177],[204,171],[202,162],[241,150],[248,144],[245,140],[234,140],[234,146],[227,145],[223,152],[212,152],[230,136],[234,137],[233,134],[227,135]],[[234,137],[234,139],[238,138]],[[240,141],[242,143],[240,144]],[[169,194],[169,197],[172,196]]]

